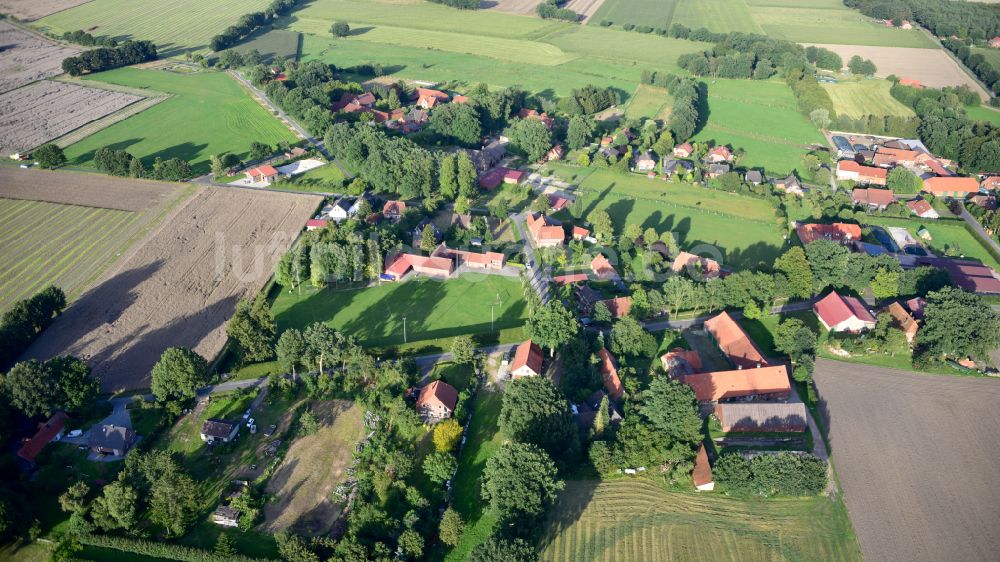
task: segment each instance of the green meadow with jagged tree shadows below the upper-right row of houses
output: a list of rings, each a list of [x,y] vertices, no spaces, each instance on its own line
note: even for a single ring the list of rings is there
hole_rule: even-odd
[[[683,183],[599,170],[580,184],[571,212],[597,210],[611,215],[618,232],[626,224],[671,231],[685,249],[714,246],[726,264],[770,262],[785,244],[766,201]]]

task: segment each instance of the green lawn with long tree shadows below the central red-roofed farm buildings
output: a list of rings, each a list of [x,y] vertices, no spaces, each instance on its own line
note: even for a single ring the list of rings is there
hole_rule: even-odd
[[[447,282],[414,277],[363,289],[283,291],[274,302],[278,331],[325,322],[368,347],[489,333],[490,309],[496,329],[524,324],[527,316],[517,278],[467,273]]]

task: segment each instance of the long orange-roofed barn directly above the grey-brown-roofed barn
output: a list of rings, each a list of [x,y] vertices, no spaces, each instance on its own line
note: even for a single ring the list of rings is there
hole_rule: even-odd
[[[694,390],[699,402],[715,402],[741,396],[787,398],[792,390],[788,382],[788,367],[773,365],[759,369],[715,371],[681,377]]]

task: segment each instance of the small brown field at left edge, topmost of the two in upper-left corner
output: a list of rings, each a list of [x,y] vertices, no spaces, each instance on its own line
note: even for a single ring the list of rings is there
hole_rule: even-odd
[[[0,21],[0,93],[62,74],[62,61],[80,52]]]

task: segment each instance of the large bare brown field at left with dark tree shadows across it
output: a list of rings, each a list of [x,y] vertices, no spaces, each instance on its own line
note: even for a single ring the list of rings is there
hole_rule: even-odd
[[[76,355],[107,391],[145,388],[168,347],[212,360],[244,295],[259,291],[321,198],[201,189],[83,294],[26,356]]]

